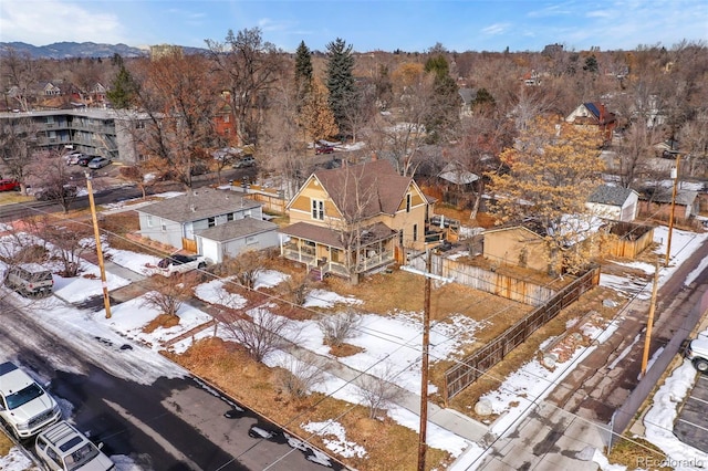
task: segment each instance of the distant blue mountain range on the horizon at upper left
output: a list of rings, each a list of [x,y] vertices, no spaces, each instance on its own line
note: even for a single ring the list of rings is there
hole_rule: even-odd
[[[46,45],[32,45],[24,42],[0,42],[0,56],[9,50],[32,59],[70,59],[70,57],[142,57],[149,55],[149,49],[133,48],[126,44],[97,44],[95,42],[55,42]],[[185,53],[199,51],[197,48],[184,48]]]

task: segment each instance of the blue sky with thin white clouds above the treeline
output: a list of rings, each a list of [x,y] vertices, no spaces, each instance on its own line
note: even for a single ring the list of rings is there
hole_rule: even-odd
[[[205,46],[260,28],[294,51],[341,38],[357,52],[666,48],[708,40],[707,0],[2,0],[0,42]]]

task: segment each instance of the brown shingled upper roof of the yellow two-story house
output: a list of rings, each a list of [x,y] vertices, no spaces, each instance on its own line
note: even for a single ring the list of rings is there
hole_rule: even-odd
[[[413,178],[402,177],[388,160],[372,160],[313,174],[345,218],[394,214]],[[361,206],[361,207],[360,207]]]

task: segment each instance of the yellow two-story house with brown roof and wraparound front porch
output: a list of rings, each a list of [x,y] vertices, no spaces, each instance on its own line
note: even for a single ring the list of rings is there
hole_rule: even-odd
[[[281,254],[353,283],[425,248],[429,201],[387,160],[312,174],[287,206]]]

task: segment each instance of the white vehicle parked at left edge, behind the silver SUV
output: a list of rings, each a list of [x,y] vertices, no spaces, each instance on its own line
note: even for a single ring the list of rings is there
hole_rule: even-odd
[[[25,371],[0,364],[0,420],[17,439],[28,439],[61,419],[59,405]]]

